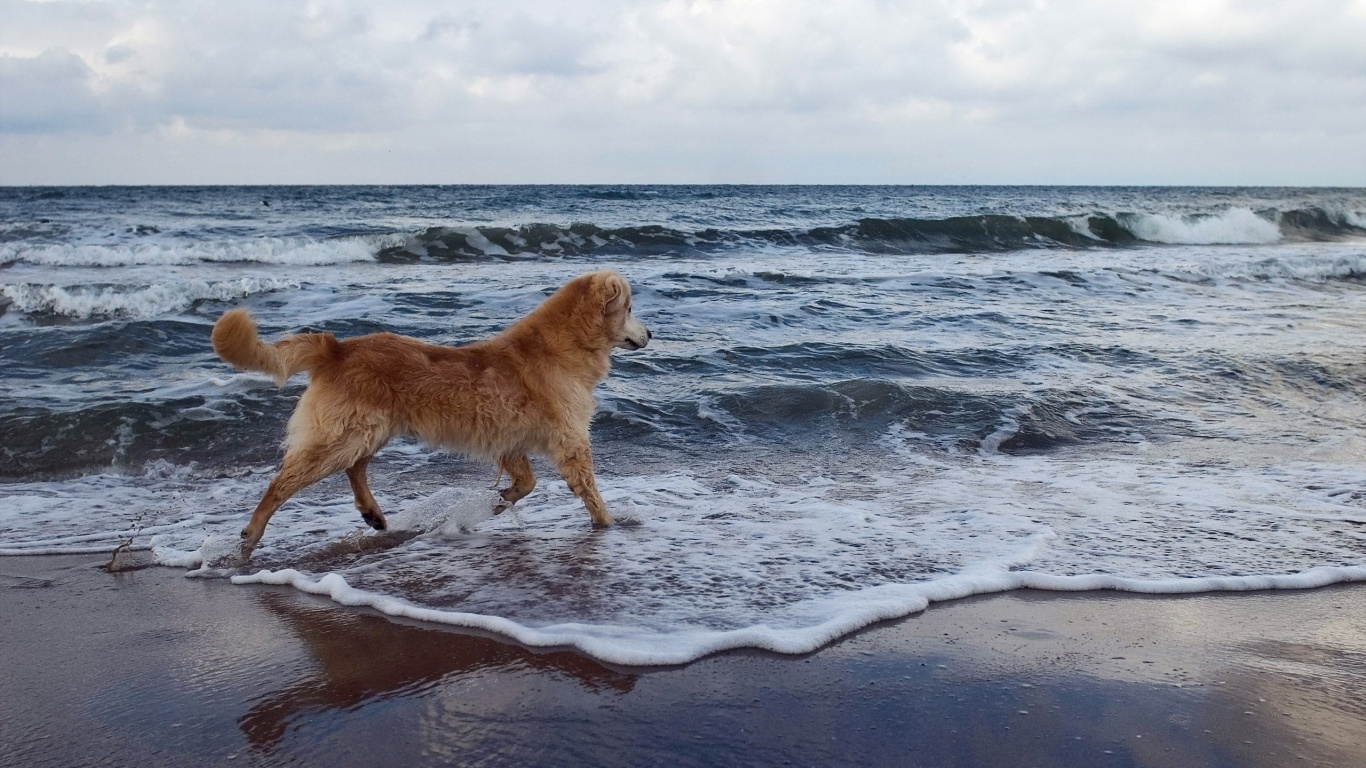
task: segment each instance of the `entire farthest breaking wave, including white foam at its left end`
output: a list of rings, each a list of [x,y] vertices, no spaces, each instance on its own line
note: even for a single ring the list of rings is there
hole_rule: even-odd
[[[680,230],[663,224],[602,227],[533,223],[448,225],[413,234],[255,238],[205,242],[0,243],[0,266],[137,266],[251,262],[317,266],[344,262],[460,262],[582,256],[676,256],[735,247],[863,253],[994,253],[1135,245],[1268,245],[1366,236],[1366,213],[1335,206],[1292,210],[1228,208],[1212,213],[1082,213],[859,219],[809,228]]]

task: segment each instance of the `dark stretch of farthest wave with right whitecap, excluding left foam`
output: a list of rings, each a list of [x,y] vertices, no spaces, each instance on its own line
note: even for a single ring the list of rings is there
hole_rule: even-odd
[[[378,250],[378,260],[482,261],[586,254],[669,256],[731,247],[816,247],[866,253],[984,253],[1134,245],[1266,245],[1366,236],[1366,215],[1337,208],[1288,212],[1229,208],[1217,213],[1093,213],[861,219],[803,230],[676,230],[591,223],[520,227],[429,227]]]

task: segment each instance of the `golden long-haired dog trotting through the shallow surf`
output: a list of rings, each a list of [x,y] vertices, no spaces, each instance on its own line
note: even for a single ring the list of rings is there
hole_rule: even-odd
[[[242,555],[251,555],[270,515],[291,496],[343,470],[361,517],[385,530],[365,469],[399,435],[494,462],[499,477],[505,473],[511,481],[494,512],[535,488],[527,455],[548,456],[593,523],[612,525],[593,478],[593,387],[607,379],[613,348],[639,350],[652,338],[631,314],[631,286],[613,271],[570,280],[501,333],[463,347],[396,333],[342,340],[295,333],[266,344],[245,309],[225,313],[212,335],[225,362],[268,373],[281,387],[290,376],[309,373],[309,388],[290,417],[280,473],[242,529]]]

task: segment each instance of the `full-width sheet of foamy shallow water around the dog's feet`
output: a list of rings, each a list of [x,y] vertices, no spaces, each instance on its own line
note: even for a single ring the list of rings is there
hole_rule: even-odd
[[[1361,466],[1197,465],[1138,448],[934,456],[917,445],[914,433],[891,429],[885,462],[856,480],[601,476],[613,512],[639,522],[600,532],[559,481],[522,502],[525,526],[510,515],[460,525],[486,518],[494,496],[452,488],[402,504],[393,530],[418,536],[359,560],[326,552],[384,534],[363,527],[335,484],[287,504],[257,551],[264,570],[234,581],[290,584],[620,664],[744,646],[809,652],[933,601],[1018,588],[1188,593],[1366,581]],[[214,541],[235,543],[266,478],[11,484],[0,553],[108,552],[131,538],[163,564],[197,567],[221,549]]]

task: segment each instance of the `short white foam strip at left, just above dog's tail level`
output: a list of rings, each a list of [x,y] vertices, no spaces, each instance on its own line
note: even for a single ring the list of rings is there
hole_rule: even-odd
[[[133,286],[51,286],[19,283],[0,288],[14,301],[12,310],[67,317],[156,317],[182,312],[197,301],[232,301],[253,294],[298,288],[302,283],[279,277],[179,280]]]

